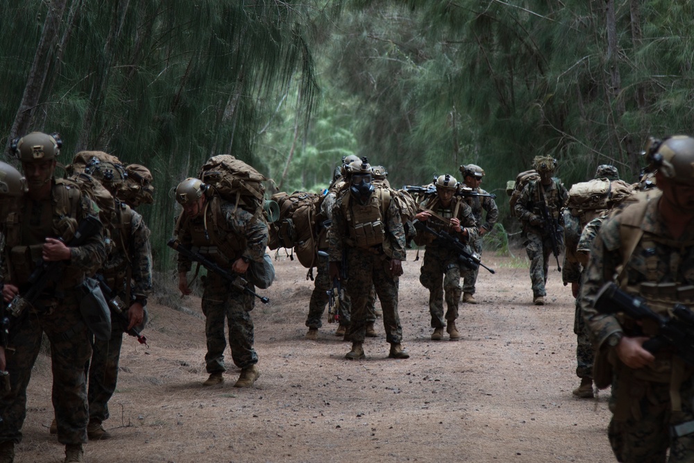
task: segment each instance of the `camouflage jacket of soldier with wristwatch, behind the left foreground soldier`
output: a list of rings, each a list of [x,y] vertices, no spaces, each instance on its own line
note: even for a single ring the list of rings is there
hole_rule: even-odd
[[[129,223],[124,223],[125,217],[129,218]],[[112,235],[115,244],[103,265],[103,276],[108,285],[116,289],[122,297],[127,294],[126,276],[130,273],[130,298],[146,299],[152,290],[152,249],[149,243],[149,228],[144,223],[142,215],[125,203],[117,204],[117,221],[119,233]]]

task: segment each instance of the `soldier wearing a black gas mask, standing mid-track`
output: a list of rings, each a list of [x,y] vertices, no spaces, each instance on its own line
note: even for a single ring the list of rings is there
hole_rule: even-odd
[[[373,285],[381,301],[389,357],[409,358],[403,349],[403,327],[398,315],[398,277],[403,274],[405,230],[390,192],[371,184],[371,166],[366,158],[345,168],[348,192],[332,210],[328,230],[330,278],[339,278],[343,255],[347,264],[347,290],[352,301],[349,360],[364,355],[366,303]]]

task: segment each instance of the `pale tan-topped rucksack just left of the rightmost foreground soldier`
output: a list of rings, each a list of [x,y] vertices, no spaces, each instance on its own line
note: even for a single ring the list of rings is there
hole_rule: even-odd
[[[595,178],[575,183],[568,192],[566,209],[579,219],[581,228],[589,221],[610,209],[614,203],[623,201],[632,192],[632,186],[623,180]]]

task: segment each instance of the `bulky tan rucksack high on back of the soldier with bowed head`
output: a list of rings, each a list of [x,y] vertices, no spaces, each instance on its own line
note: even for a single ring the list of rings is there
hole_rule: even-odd
[[[198,178],[212,187],[213,194],[218,194],[225,201],[233,203],[253,214],[254,218],[263,217],[265,203],[265,185],[269,180],[246,162],[230,154],[212,156],[198,172]]]

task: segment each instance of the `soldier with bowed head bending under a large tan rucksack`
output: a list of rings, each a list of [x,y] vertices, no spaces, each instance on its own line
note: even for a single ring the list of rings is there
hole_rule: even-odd
[[[207,185],[197,178],[186,178],[178,184],[176,201],[183,206],[176,224],[176,237],[180,244],[197,248],[222,268],[237,274],[246,273],[251,261],[263,261],[268,231],[262,219],[217,195],[208,195]],[[216,226],[208,227],[208,224]],[[178,289],[183,295],[192,292],[187,280],[191,267],[192,262],[179,254]],[[226,318],[232,359],[241,369],[234,387],[251,387],[260,376],[255,365],[258,357],[253,348],[251,319],[255,299],[251,294],[239,292],[232,283],[214,271],[208,271],[203,287],[202,309],[208,341],[205,368],[210,373],[203,385],[218,385],[224,380]]]

